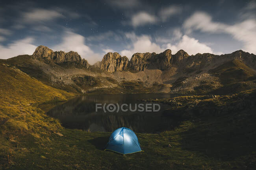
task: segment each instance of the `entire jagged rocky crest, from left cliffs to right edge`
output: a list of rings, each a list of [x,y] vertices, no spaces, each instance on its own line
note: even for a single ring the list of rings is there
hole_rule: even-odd
[[[82,59],[77,52],[69,51],[65,53],[64,51],[53,51],[46,46],[38,46],[32,57],[46,63],[66,63],[82,66],[83,68],[100,68],[109,73],[116,71],[137,73],[139,71],[145,71],[146,69],[159,69],[164,71],[170,68],[176,68],[181,72],[202,72],[233,59],[241,60],[251,68],[256,69],[256,55],[242,50],[224,55],[214,55],[210,53],[188,55],[188,53],[181,49],[173,55],[171,49],[167,49],[159,54],[135,53],[132,55],[131,60],[126,56],[122,57],[117,52],[109,52],[104,55],[101,62],[90,65],[87,60]]]

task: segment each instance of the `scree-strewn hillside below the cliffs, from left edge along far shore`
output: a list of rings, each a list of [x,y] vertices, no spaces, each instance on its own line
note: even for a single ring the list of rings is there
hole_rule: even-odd
[[[30,55],[19,55],[1,62],[19,68],[48,86],[76,94],[167,93],[170,90],[169,84],[161,82],[157,83],[159,88],[152,87],[161,77],[159,70],[112,74],[99,68],[86,69],[72,64],[43,62]]]

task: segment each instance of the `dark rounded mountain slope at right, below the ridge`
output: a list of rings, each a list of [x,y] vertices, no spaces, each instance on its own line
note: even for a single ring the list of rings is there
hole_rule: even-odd
[[[175,93],[232,94],[256,88],[256,71],[241,60],[234,59],[221,66],[190,77],[182,77],[173,83]]]

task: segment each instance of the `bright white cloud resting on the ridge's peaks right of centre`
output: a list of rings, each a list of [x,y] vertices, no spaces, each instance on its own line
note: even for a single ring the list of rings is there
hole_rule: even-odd
[[[180,49],[186,51],[189,55],[195,55],[197,53],[213,53],[212,49],[206,44],[198,42],[195,38],[188,37],[183,35],[182,39],[175,45],[166,44],[163,45],[167,49],[172,50],[172,54],[175,54]]]

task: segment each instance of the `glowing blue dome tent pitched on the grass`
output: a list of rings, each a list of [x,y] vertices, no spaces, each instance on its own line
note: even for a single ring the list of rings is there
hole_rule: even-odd
[[[111,134],[105,150],[124,155],[142,151],[135,133],[124,127],[118,128]]]

